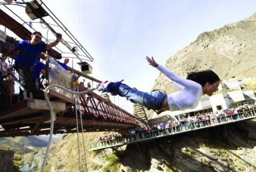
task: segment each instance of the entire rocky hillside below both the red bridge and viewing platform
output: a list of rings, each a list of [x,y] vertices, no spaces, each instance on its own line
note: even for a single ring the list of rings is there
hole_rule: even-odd
[[[242,126],[243,125],[243,126]],[[95,172],[224,172],[256,171],[256,120],[141,142],[88,151],[88,143],[103,133],[86,133],[88,171]],[[82,171],[85,159],[80,138]],[[138,149],[139,147],[139,149]],[[24,158],[32,168],[39,168],[45,149]],[[79,170],[77,135],[70,134],[52,144],[46,171],[73,172]]]

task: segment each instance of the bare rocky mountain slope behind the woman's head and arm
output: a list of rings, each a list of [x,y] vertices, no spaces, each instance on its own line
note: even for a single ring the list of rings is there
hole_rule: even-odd
[[[180,76],[211,69],[222,80],[254,77],[256,73],[256,13],[250,18],[200,34],[193,43],[166,61],[165,66]],[[160,74],[153,89],[177,91]]]

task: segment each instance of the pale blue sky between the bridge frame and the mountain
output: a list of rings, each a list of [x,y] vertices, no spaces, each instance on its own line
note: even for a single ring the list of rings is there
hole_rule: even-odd
[[[199,34],[250,17],[252,0],[45,0],[93,56],[93,74],[150,91],[165,61]],[[65,11],[65,13],[63,13]],[[66,15],[68,14],[68,15]]]

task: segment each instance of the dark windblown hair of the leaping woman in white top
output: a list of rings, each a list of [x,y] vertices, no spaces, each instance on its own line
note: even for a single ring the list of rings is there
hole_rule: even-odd
[[[190,72],[188,73],[187,79],[195,81],[201,86],[204,86],[206,82],[213,84],[216,81],[220,81],[219,76],[210,69],[202,70],[200,72]]]

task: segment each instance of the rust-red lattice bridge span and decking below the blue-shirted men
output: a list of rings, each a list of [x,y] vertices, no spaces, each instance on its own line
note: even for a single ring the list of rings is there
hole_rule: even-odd
[[[79,86],[83,91],[86,88]],[[109,100],[93,92],[80,96],[75,108],[74,99],[56,91],[48,93],[56,112],[53,134],[77,132],[76,112],[82,115],[82,123],[78,117],[78,125],[83,124],[84,132],[88,131],[122,131],[135,128],[137,123],[133,115],[116,106]],[[16,103],[17,96],[12,96],[13,104],[8,98],[1,97],[0,137],[30,136],[50,133],[50,112],[43,98],[43,91],[34,95],[35,99],[27,99]],[[82,132],[79,129],[79,132]]]

